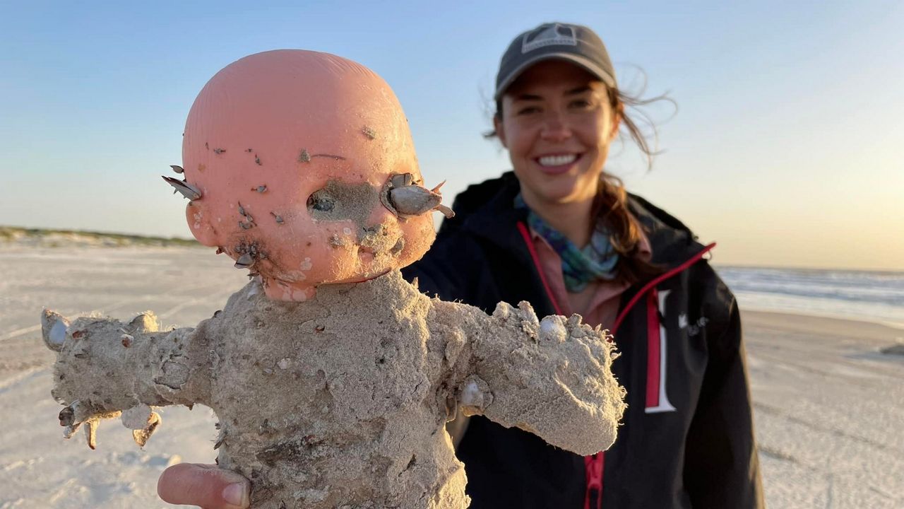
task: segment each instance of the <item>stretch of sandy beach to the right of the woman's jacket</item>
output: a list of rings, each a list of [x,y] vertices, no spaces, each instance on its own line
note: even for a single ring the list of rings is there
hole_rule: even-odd
[[[742,312],[769,507],[904,507],[904,331]]]

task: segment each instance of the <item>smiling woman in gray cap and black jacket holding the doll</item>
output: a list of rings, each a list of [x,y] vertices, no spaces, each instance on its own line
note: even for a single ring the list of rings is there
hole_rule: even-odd
[[[428,255],[421,290],[492,311],[530,301],[612,331],[628,409],[616,444],[581,457],[472,418],[458,444],[472,507],[762,506],[737,305],[683,224],[603,172],[626,117],[589,28],[542,24],[515,38],[496,79],[494,134],[513,173],[469,187]],[[460,422],[458,424],[461,424]],[[198,466],[161,477],[165,500],[247,504]],[[222,504],[232,489],[236,505]],[[197,490],[194,495],[186,495]]]

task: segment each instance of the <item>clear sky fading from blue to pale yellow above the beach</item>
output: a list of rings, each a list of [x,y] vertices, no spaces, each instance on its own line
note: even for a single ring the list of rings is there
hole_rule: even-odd
[[[451,197],[509,168],[496,66],[545,21],[600,34],[664,150],[607,170],[679,217],[718,264],[904,270],[904,3],[0,0],[0,225],[190,237],[160,175],[181,164],[203,84],[250,53],[304,48],[378,72],[427,183]],[[632,86],[634,85],[634,86]]]

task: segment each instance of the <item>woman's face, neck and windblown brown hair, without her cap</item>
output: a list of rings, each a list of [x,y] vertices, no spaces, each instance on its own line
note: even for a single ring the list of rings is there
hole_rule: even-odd
[[[644,257],[635,256],[640,228],[628,212],[621,179],[602,169],[609,145],[622,127],[652,167],[654,150],[626,106],[672,100],[665,96],[641,99],[618,90],[605,48],[599,58],[608,71],[583,65],[581,59],[541,60],[529,66],[513,78],[503,95],[497,91],[494,130],[486,137],[497,137],[509,150],[523,199],[532,210],[542,210],[540,216],[578,245],[589,242],[591,230],[606,226],[604,233],[613,248],[626,255],[620,262],[621,274],[636,281],[654,270]],[[565,208],[570,210],[557,212]],[[599,219],[603,214],[605,221],[596,220],[595,228],[588,227],[594,222],[591,217]],[[575,222],[575,217],[581,220]]]

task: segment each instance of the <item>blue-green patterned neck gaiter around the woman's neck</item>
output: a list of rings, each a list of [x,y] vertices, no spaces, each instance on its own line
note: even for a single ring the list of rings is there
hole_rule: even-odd
[[[527,224],[541,235],[562,259],[562,275],[565,288],[570,293],[578,293],[591,281],[598,279],[612,281],[616,278],[618,253],[609,241],[609,232],[600,226],[594,228],[590,243],[583,249],[571,243],[565,235],[549,226],[541,216],[524,203],[521,193],[514,198],[515,208],[527,211]]]

